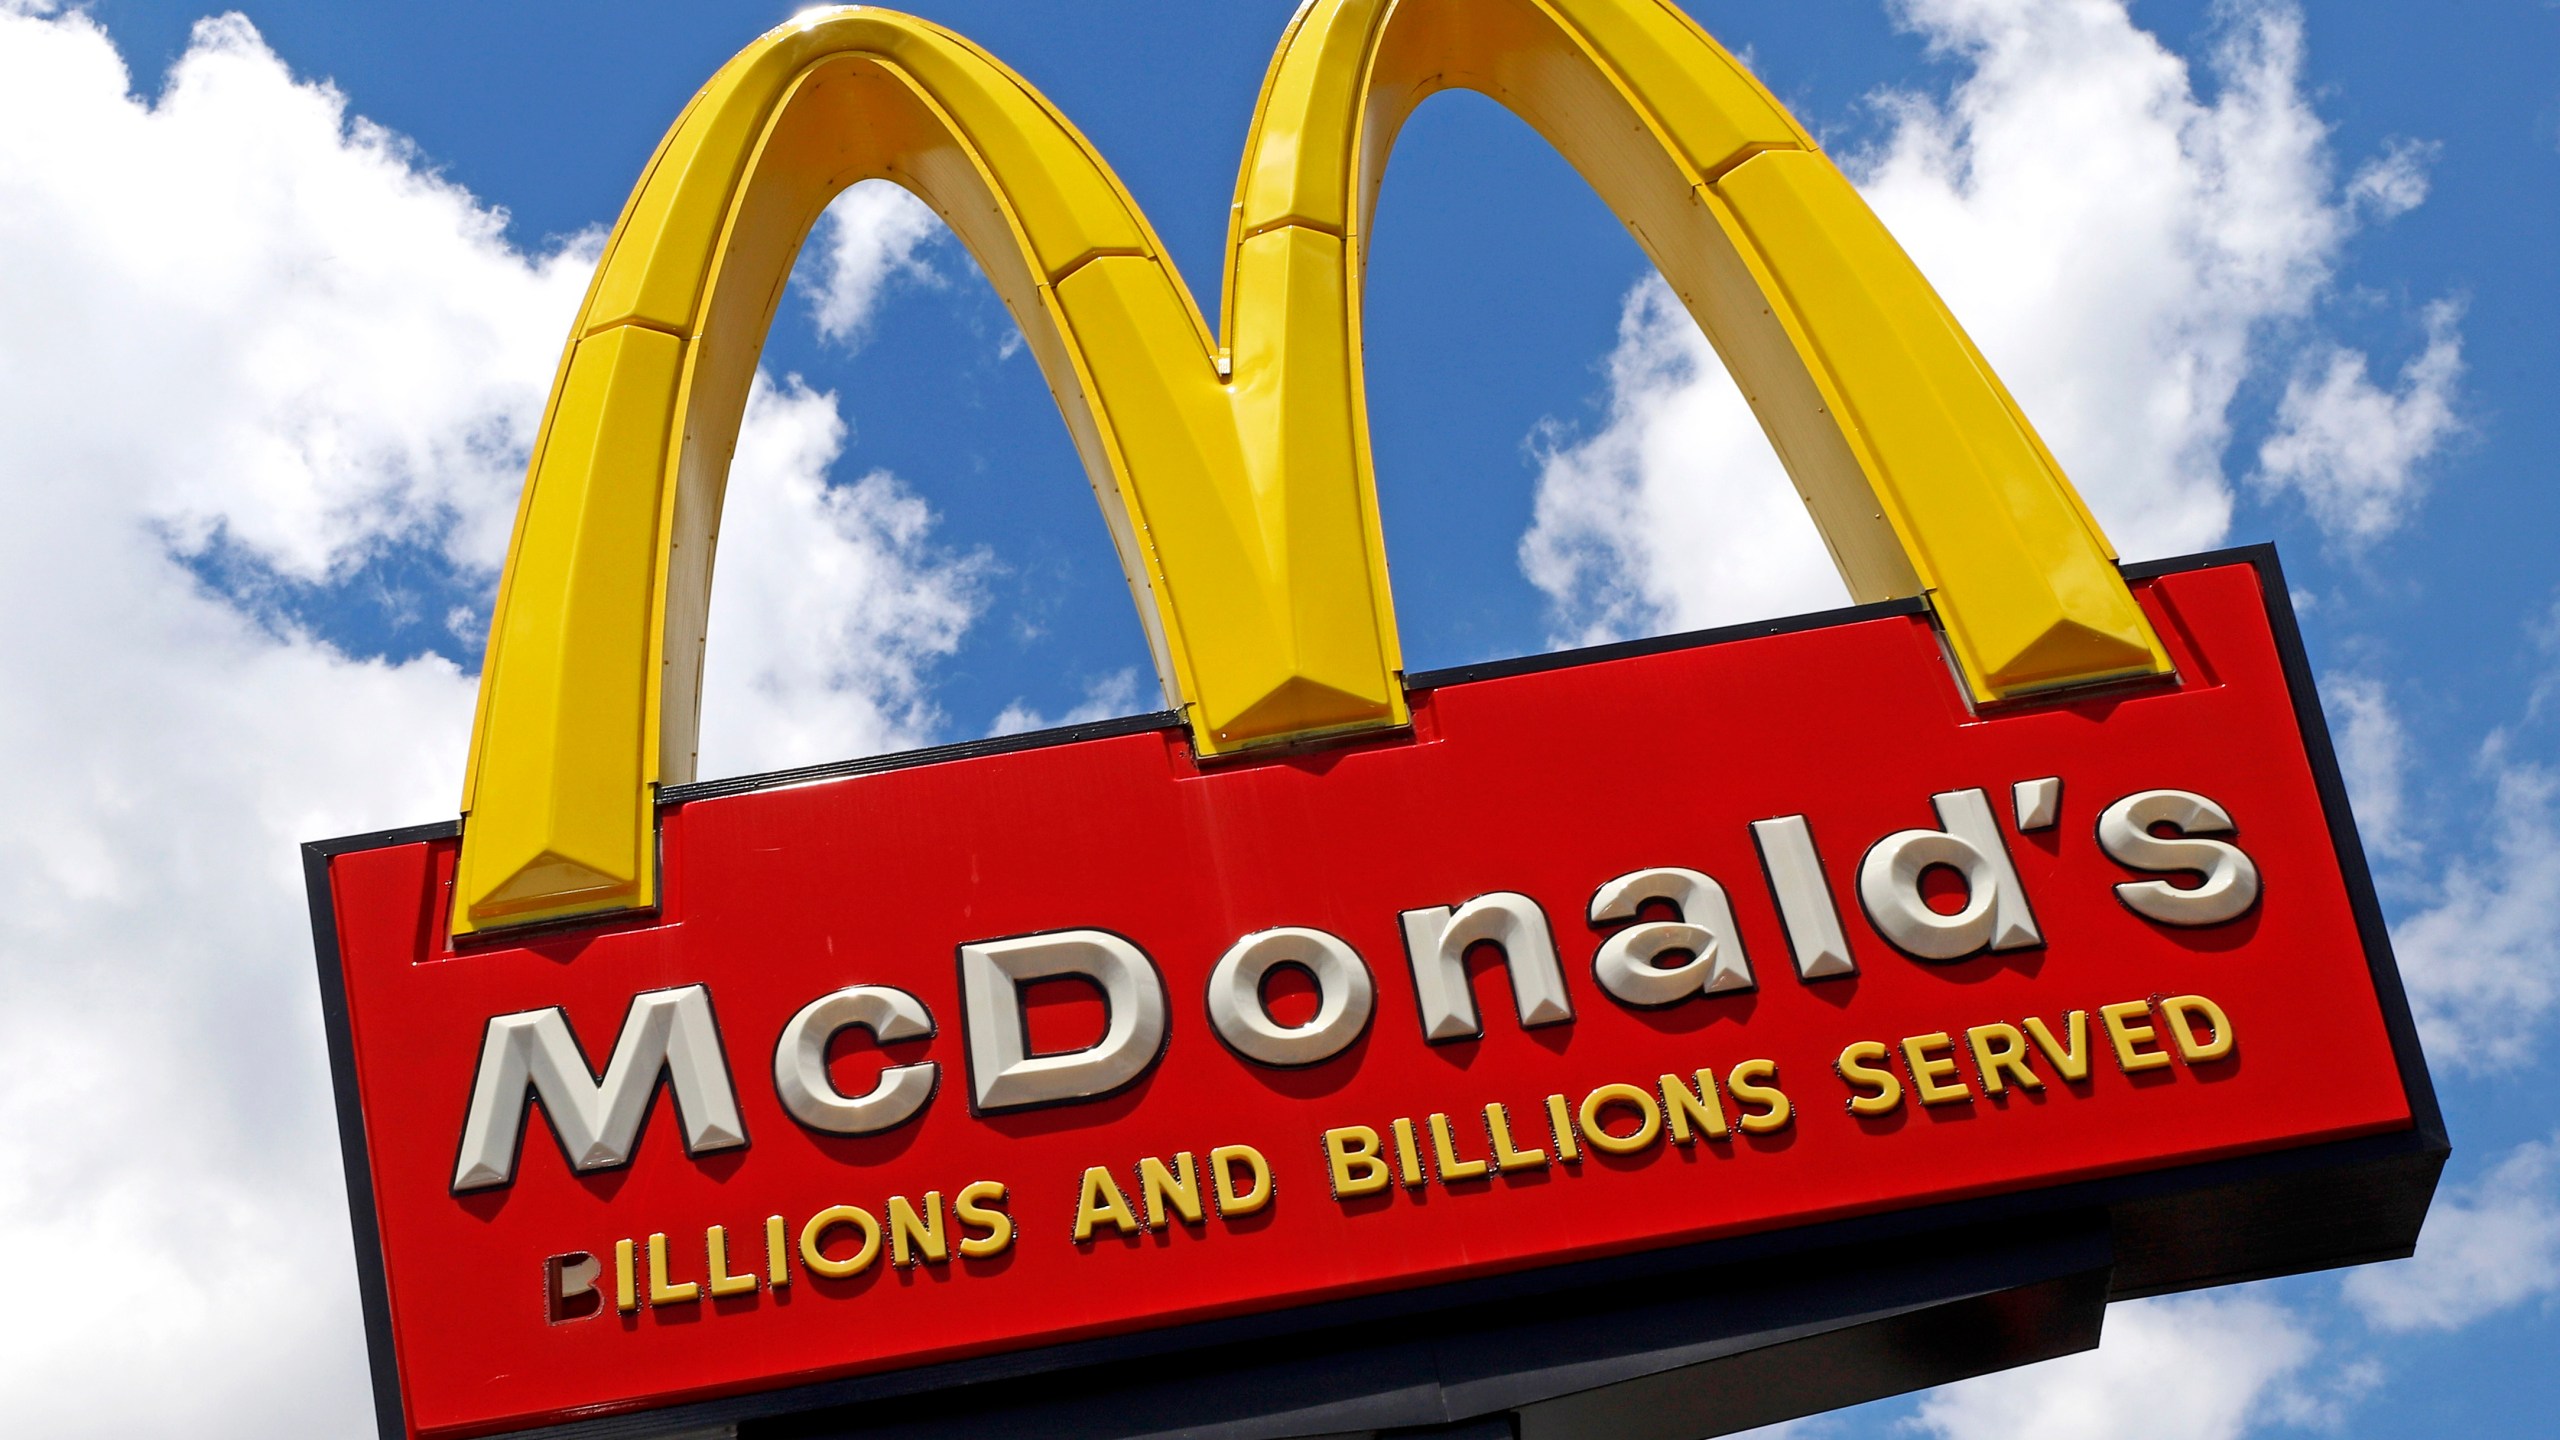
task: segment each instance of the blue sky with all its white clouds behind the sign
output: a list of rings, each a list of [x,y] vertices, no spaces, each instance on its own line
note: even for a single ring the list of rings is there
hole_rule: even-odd
[[[1293,5],[911,8],[1098,143],[1213,313]],[[0,822],[0,1051],[44,1061],[0,1074],[0,1232],[74,1258],[148,1235],[92,1299],[0,1320],[10,1414],[358,1427],[292,843],[451,815],[599,225],[786,13],[0,0],[0,592],[31,618],[0,638],[31,776]],[[1866,187],[2130,556],[2281,543],[2458,1143],[2414,1263],[2117,1307],[2099,1355],[1800,1432],[2545,1430],[2560,10],[1692,13]],[[1083,474],[968,256],[860,192],[794,287],[732,487],[709,771],[1155,707]],[[1490,102],[1416,115],[1367,305],[1413,669],[1838,594],[1684,313]],[[115,1140],[136,1130],[164,1143]],[[195,1202],[143,1222],[166,1194]],[[82,1373],[118,1381],[59,1409]]]

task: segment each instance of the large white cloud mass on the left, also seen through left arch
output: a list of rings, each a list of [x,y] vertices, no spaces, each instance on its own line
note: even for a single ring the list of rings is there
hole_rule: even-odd
[[[333,597],[397,548],[484,597],[591,251],[509,246],[246,20],[138,95],[92,18],[0,3],[13,1432],[371,1430],[297,843],[453,815],[474,679],[241,577]],[[914,497],[822,484],[840,446],[794,384],[740,443],[724,600],[835,607],[714,620],[742,766],[804,748],[758,702],[919,733],[970,615]]]

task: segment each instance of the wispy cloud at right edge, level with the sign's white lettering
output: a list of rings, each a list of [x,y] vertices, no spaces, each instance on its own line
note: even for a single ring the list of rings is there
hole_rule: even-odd
[[[2478,846],[2445,863],[2435,902],[2391,928],[2432,1066],[2504,1071],[2537,1058],[2560,1004],[2560,776],[2483,748]]]

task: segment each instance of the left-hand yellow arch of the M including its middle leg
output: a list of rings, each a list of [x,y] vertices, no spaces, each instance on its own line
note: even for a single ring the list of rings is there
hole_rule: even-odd
[[[1341,495],[1280,484],[1283,451],[1349,448],[1341,377],[1318,377],[1331,415],[1316,420],[1285,402],[1295,377],[1231,387],[1155,233],[1062,115],[950,31],[817,13],[696,95],[607,246],[492,628],[456,933],[653,902],[648,805],[691,779],[755,354],[809,225],[873,177],[952,223],[1029,338],[1201,748],[1403,723],[1382,584],[1324,584],[1336,556],[1359,574],[1380,551],[1364,495],[1339,464]],[[1341,307],[1339,264],[1313,287],[1283,310]],[[632,346],[663,351],[663,382],[609,395],[614,443],[576,443],[579,407],[604,402],[586,377],[620,374],[607,359]],[[607,518],[648,523],[620,556],[637,587],[604,587],[581,559]]]

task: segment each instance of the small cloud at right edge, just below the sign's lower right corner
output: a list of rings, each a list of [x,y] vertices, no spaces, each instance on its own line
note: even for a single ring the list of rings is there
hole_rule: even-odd
[[[2386,1332],[2460,1330],[2560,1291],[2560,1138],[2509,1150],[2478,1184],[2440,1191],[2417,1256],[2348,1273],[2348,1302]]]

